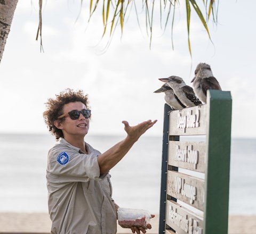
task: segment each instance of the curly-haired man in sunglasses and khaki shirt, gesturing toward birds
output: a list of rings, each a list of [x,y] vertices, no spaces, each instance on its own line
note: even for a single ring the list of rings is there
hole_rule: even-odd
[[[137,126],[123,121],[127,136],[101,154],[84,141],[91,111],[82,90],[67,89],[49,98],[46,107],[45,123],[57,140],[61,138],[49,151],[46,170],[51,233],[115,234],[118,205],[111,197],[108,172],[156,120]],[[146,233],[142,227],[131,229]]]

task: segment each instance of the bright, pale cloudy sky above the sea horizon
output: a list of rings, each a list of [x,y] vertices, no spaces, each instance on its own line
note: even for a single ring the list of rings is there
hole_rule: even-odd
[[[256,138],[256,2],[220,1],[217,26],[209,22],[211,40],[191,9],[192,57],[183,2],[175,13],[174,48],[171,24],[161,29],[156,5],[151,48],[145,14],[138,11],[139,27],[132,9],[123,35],[118,27],[105,49],[101,9],[87,23],[85,3],[77,19],[79,1],[44,1],[40,52],[38,1],[19,0],[0,64],[0,133],[47,133],[47,98],[71,88],[89,94],[89,134],[124,135],[123,120],[135,125],[157,119],[145,135],[162,136],[164,94],[153,93],[163,85],[158,78],[180,76],[192,86],[196,65],[205,62],[222,90],[231,92],[231,136]]]

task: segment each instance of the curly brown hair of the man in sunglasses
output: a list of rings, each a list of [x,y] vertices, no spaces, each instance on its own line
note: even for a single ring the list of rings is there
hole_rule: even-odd
[[[76,92],[73,89],[66,89],[61,91],[59,95],[55,95],[56,98],[48,98],[46,104],[47,110],[43,113],[44,122],[47,125],[47,128],[55,136],[56,140],[63,137],[61,129],[58,129],[54,126],[54,121],[58,119],[62,113],[62,108],[65,104],[72,102],[82,102],[86,109],[89,109],[88,95],[83,94],[83,90],[79,89]],[[65,118],[61,118],[60,122],[65,121]]]

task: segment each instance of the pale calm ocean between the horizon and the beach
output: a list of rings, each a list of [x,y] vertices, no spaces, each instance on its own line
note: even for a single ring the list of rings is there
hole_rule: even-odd
[[[101,153],[121,136],[86,136]],[[0,212],[47,213],[46,160],[51,135],[0,134]],[[256,139],[232,139],[229,214],[256,214]],[[111,169],[115,202],[159,213],[162,137],[142,136]]]

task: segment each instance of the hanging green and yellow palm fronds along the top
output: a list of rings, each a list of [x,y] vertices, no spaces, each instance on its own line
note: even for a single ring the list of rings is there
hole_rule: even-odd
[[[173,35],[173,26],[174,26],[174,13],[177,9],[177,6],[179,6],[179,0],[158,0],[159,1],[159,10],[161,15],[161,22],[162,22],[162,15],[165,13],[167,15],[166,21],[165,21],[165,27],[164,30],[167,27],[167,23],[171,20],[171,31]],[[137,21],[139,23],[139,17],[136,7],[136,1],[135,0],[90,0],[90,16],[89,21],[92,18],[92,15],[94,14],[95,10],[102,7],[102,22],[103,22],[103,33],[102,37],[106,35],[107,28],[109,28],[109,43],[111,41],[111,38],[113,37],[113,34],[115,32],[116,26],[119,25],[121,27],[121,33],[123,34],[123,28],[124,28],[124,22],[126,18],[128,19],[127,12],[130,12],[129,10],[134,7],[135,13],[137,15]],[[189,53],[191,55],[191,46],[190,46],[190,13],[191,13],[191,6],[194,9],[195,13],[198,15],[199,20],[202,22],[203,27],[205,28],[207,35],[210,38],[210,32],[207,27],[207,22],[210,19],[210,16],[213,18],[213,22],[217,23],[217,13],[218,13],[218,1],[215,3],[215,0],[203,0],[201,2],[201,5],[203,5],[201,8],[198,6],[199,1],[195,0],[185,0],[186,2],[186,13],[187,13],[187,31],[188,31],[188,48]],[[41,4],[40,4],[41,3]],[[81,7],[83,3],[87,4],[87,1],[81,0]],[[138,0],[137,0],[138,3]],[[217,7],[216,7],[217,5]],[[155,0],[142,0],[142,11],[145,11],[145,17],[146,17],[146,29],[147,34],[150,37],[150,46],[152,41],[152,35],[153,35],[153,15],[154,15],[154,6],[155,6]],[[41,36],[41,46],[42,46],[42,35],[41,35],[41,29],[42,29],[42,0],[39,0],[39,27],[38,32],[40,32]],[[202,13],[202,9],[205,11],[205,16]],[[172,18],[170,19],[170,15],[172,15]],[[211,39],[211,38],[210,38]],[[173,46],[173,40],[172,40],[172,46]]]

